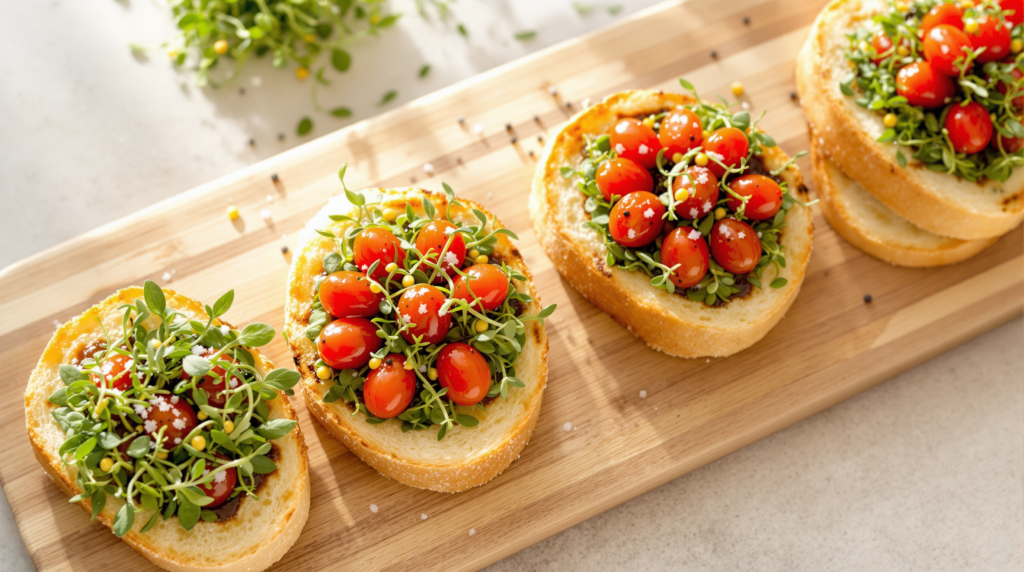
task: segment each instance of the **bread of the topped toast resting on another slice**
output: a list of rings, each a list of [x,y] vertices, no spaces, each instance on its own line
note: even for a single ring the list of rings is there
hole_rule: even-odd
[[[896,161],[897,146],[878,143],[882,116],[840,91],[850,73],[844,48],[886,0],[835,0],[818,15],[797,61],[797,87],[819,145],[839,168],[900,217],[936,234],[964,240],[1000,236],[1024,219],[1024,169],[1007,182],[972,183]],[[902,148],[910,158],[912,149]]]

